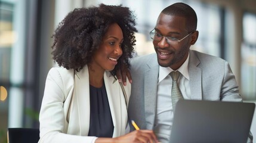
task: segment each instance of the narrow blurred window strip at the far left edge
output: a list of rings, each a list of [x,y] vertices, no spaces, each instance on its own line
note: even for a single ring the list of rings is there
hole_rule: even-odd
[[[14,42],[14,5],[0,1],[0,142],[5,142],[8,123],[11,52]]]

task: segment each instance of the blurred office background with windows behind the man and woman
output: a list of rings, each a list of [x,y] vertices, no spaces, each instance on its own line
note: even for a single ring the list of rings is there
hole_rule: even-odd
[[[45,78],[55,66],[51,35],[73,8],[101,2],[134,11],[138,55],[155,52],[149,32],[161,10],[189,4],[198,14],[199,39],[192,49],[229,61],[243,100],[256,101],[255,0],[0,0],[0,142],[7,128],[39,128]],[[255,138],[256,115],[251,130]]]

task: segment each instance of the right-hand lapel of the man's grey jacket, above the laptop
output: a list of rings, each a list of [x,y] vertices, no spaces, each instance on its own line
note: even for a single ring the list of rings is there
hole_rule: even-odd
[[[190,51],[189,78],[191,100],[202,100],[202,69],[198,67],[200,60]]]

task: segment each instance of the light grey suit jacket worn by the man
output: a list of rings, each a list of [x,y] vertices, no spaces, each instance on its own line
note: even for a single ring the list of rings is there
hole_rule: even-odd
[[[159,64],[156,54],[131,60],[132,88],[128,116],[141,129],[153,129]],[[242,101],[238,85],[227,61],[190,51],[191,100]]]

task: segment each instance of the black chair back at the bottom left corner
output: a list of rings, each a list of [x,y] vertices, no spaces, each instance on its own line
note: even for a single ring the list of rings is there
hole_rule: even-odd
[[[39,129],[8,128],[8,143],[36,143],[39,141]]]

